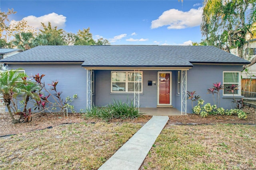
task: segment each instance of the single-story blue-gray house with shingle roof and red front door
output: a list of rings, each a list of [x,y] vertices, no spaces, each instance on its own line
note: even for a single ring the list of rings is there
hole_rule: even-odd
[[[250,63],[213,46],[169,45],[38,46],[0,62],[28,75],[45,74],[46,83],[57,79],[64,97],[78,95],[72,103],[78,111],[115,99],[183,114],[192,109],[186,91],[213,105],[207,89],[216,82],[240,85],[242,66]],[[235,96],[243,97],[240,90]],[[220,107],[234,107],[232,98],[223,90]]]

